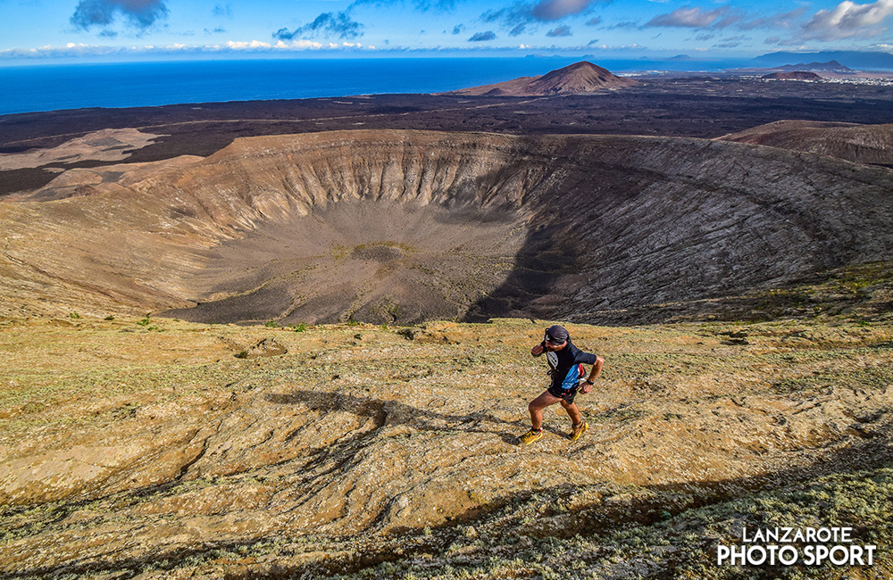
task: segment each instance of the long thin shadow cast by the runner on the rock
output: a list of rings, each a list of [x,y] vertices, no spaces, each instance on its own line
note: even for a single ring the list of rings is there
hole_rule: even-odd
[[[459,430],[467,433],[492,433],[499,435],[505,443],[518,443],[518,437],[526,426],[524,421],[507,421],[484,411],[474,411],[465,415],[440,413],[434,410],[419,409],[403,402],[381,401],[371,397],[358,397],[350,394],[323,393],[318,391],[293,391],[287,394],[267,394],[266,399],[280,405],[303,405],[308,410],[320,413],[346,411],[357,417],[371,418],[376,428],[388,425],[408,425],[421,431]],[[437,399],[432,400],[438,403]],[[443,402],[440,402],[443,404]],[[514,431],[495,430],[494,427],[515,428]]]

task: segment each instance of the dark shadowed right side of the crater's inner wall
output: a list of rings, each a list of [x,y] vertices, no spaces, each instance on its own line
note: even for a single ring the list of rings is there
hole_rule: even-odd
[[[725,145],[567,137],[554,153],[561,179],[538,198],[514,269],[464,319],[721,317],[726,299],[882,260],[893,246],[883,202],[893,173]]]

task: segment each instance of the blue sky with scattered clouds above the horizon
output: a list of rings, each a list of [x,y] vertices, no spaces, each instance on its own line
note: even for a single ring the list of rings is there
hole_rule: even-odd
[[[0,0],[0,60],[893,52],[893,0]]]

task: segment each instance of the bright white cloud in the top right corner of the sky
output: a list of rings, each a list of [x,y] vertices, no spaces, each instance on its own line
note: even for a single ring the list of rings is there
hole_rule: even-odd
[[[804,26],[800,37],[823,41],[876,37],[887,30],[883,23],[891,14],[893,0],[877,0],[872,4],[855,4],[846,0],[833,10],[816,12]]]

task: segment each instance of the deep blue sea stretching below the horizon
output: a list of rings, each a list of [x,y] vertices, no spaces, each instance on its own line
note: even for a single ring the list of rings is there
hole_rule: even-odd
[[[721,70],[731,62],[585,57],[280,59],[0,66],[0,115],[386,93],[436,93],[545,74],[589,60],[614,73]]]

